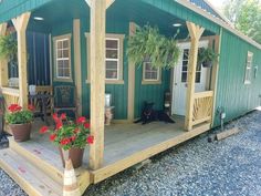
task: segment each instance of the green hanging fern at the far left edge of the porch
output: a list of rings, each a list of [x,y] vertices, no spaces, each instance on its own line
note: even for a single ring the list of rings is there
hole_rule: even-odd
[[[0,37],[0,59],[8,59],[11,63],[18,61],[18,42],[12,34]]]

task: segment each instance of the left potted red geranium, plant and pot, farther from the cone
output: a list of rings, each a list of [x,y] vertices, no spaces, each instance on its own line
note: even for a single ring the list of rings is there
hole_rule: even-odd
[[[12,131],[14,141],[24,142],[30,140],[34,106],[29,105],[28,110],[22,110],[18,104],[11,104],[6,114],[6,122]]]

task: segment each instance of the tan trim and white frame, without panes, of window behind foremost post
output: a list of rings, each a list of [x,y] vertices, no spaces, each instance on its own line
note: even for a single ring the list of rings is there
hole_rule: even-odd
[[[90,56],[91,56],[91,42],[90,42],[90,33],[85,33],[85,38],[86,38],[86,48],[87,48],[87,80],[86,83],[91,83],[91,69],[90,69]],[[108,40],[118,40],[118,72],[117,72],[117,79],[105,79],[105,83],[106,84],[124,84],[124,79],[123,79],[123,70],[124,70],[124,39],[125,39],[125,34],[112,34],[112,33],[107,33],[106,34],[106,39]],[[106,50],[106,48],[105,48]],[[111,59],[106,59],[105,56],[105,61],[106,60],[111,60]],[[113,59],[114,61],[115,59]]]

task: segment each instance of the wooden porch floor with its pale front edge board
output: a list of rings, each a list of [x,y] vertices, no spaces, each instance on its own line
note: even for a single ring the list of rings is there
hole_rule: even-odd
[[[76,169],[77,179],[82,193],[92,183],[98,183],[111,177],[146,158],[149,158],[163,151],[195,137],[210,128],[209,123],[196,126],[190,132],[184,131],[182,117],[176,117],[175,124],[155,122],[147,125],[140,124],[113,124],[105,128],[105,154],[102,168],[88,169],[88,147],[84,153],[83,167]],[[39,125],[36,123],[36,125]],[[46,173],[56,169],[63,171],[58,147],[49,142],[48,135],[38,133],[39,127],[34,126],[30,142],[17,143],[14,148],[21,148],[28,154],[27,159],[35,164],[44,162]],[[11,147],[13,145],[11,144]],[[18,151],[19,152],[19,151]],[[41,152],[41,153],[39,153]],[[32,158],[30,158],[30,155]],[[36,161],[36,162],[35,162]],[[43,165],[44,165],[43,164]],[[49,166],[51,167],[49,168]],[[51,176],[51,174],[49,174]]]

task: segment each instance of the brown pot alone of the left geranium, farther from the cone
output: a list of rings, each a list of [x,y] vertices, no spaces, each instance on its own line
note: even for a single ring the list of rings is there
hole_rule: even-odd
[[[30,140],[32,124],[9,124],[15,142],[25,142]]]

